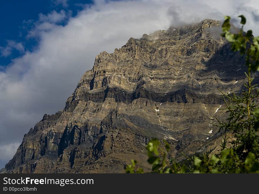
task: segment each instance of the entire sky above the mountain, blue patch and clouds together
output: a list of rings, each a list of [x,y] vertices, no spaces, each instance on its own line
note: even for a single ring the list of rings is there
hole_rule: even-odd
[[[0,168],[45,113],[64,108],[100,52],[226,14],[244,14],[259,35],[258,10],[258,0],[0,1]]]

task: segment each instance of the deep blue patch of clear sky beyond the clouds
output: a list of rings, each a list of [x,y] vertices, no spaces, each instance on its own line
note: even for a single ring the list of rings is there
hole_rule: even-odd
[[[32,51],[37,46],[37,40],[28,38],[27,33],[39,19],[39,13],[48,14],[55,10],[60,12],[71,11],[71,16],[77,15],[83,9],[83,5],[92,4],[90,0],[55,1],[55,0],[6,0],[0,1],[0,47],[8,45],[7,40],[20,42],[23,50],[12,48],[7,56],[0,55],[0,66],[4,67],[11,59],[21,56],[24,52]],[[62,21],[62,25],[65,21]],[[3,68],[0,68],[3,69]]]

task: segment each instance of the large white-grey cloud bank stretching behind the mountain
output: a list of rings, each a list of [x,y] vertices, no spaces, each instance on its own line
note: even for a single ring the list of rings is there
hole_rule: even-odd
[[[167,29],[170,24],[222,19],[224,14],[242,13],[254,18],[249,5],[240,9],[241,4],[223,0],[95,1],[77,16],[68,17],[65,26],[58,23],[67,13],[41,14],[29,32],[30,37],[39,38],[37,49],[25,52],[5,72],[0,72],[0,146],[21,142],[45,113],[53,114],[64,108],[65,100],[82,74],[92,68],[99,52],[111,53],[130,37],[140,38],[144,33]],[[258,21],[253,19],[248,27],[258,34],[259,25],[255,24]],[[5,162],[11,159],[4,153],[8,151],[1,150]]]

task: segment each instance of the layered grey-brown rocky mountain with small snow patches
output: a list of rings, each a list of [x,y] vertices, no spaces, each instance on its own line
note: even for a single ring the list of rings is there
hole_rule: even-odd
[[[153,137],[167,140],[179,159],[217,150],[213,124],[226,117],[219,89],[240,93],[246,70],[219,29],[206,19],[97,55],[64,110],[24,135],[6,172],[123,173],[130,159],[148,170],[145,145]]]

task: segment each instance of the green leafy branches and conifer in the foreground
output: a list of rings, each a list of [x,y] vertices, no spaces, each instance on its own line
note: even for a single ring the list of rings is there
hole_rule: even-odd
[[[246,89],[240,95],[222,93],[229,117],[227,122],[219,123],[224,132],[234,133],[232,147],[227,149],[228,138],[225,136],[219,154],[210,157],[207,154],[191,158],[186,156],[186,161],[189,162],[187,166],[186,162],[178,163],[168,159],[170,146],[167,142],[165,149],[162,149],[160,141],[152,139],[146,146],[147,162],[152,165],[152,173],[259,173],[259,108],[255,102],[259,91],[256,89],[257,84],[252,84],[251,78],[252,72],[259,71],[259,37],[253,37],[252,30],[245,33],[243,25],[246,19],[243,15],[239,17],[242,28],[236,29],[237,33],[231,33],[233,26],[230,24],[230,17],[225,16],[221,34],[230,42],[233,51],[245,55],[245,65],[248,68],[245,73]],[[136,165],[136,160],[131,162],[127,165],[126,173],[144,173]]]

